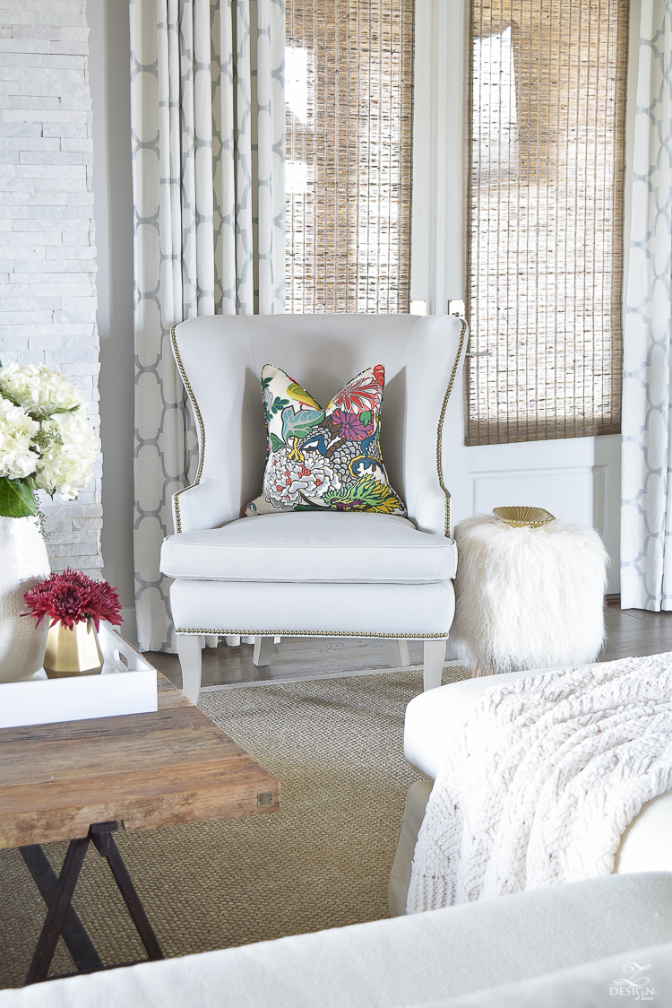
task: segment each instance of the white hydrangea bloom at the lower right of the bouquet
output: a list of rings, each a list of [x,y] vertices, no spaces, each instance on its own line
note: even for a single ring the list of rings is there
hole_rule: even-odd
[[[35,482],[47,493],[75,500],[91,479],[98,456],[96,435],[84,411],[42,420],[42,449]]]

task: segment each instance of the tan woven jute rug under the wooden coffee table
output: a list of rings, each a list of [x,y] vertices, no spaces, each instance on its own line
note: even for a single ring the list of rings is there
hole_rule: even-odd
[[[443,681],[466,677],[448,666]],[[422,671],[211,687],[199,706],[281,781],[279,813],[124,833],[117,841],[167,957],[388,916],[406,790],[404,711]],[[65,844],[45,847],[56,872]],[[91,848],[75,907],[106,964],[141,959],[107,864]],[[23,984],[45,907],[0,851],[0,987]],[[74,965],[59,941],[52,973]]]

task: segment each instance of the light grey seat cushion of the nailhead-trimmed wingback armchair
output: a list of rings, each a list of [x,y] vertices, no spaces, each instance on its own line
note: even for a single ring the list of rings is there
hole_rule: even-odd
[[[386,514],[260,514],[170,535],[161,572],[199,581],[428,584],[454,577],[454,542]]]

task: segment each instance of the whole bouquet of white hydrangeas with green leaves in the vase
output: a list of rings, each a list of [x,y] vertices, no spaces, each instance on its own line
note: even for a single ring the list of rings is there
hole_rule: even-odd
[[[0,515],[36,514],[38,489],[75,500],[97,455],[84,399],[62,375],[41,364],[0,366]]]

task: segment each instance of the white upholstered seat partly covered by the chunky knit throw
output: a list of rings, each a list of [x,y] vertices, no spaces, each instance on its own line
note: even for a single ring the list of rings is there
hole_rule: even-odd
[[[411,864],[425,805],[451,737],[468,717],[481,694],[512,679],[544,674],[551,669],[505,672],[479,678],[449,682],[431,694],[415,697],[406,708],[404,756],[411,766],[424,774],[408,790],[399,843],[389,887],[390,912],[406,912],[406,896]],[[672,872],[672,791],[648,801],[635,816],[621,839],[615,872]]]

